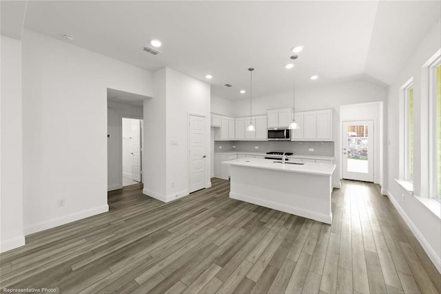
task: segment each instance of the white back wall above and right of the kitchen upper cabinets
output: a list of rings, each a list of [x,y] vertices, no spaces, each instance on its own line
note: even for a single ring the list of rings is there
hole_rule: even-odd
[[[253,98],[253,115],[266,114],[267,109],[292,107],[292,92]],[[340,105],[386,101],[387,87],[369,81],[349,81],[323,87],[296,90],[296,111],[333,108],[334,163],[340,171]],[[234,116],[249,116],[249,99],[234,101]],[[334,176],[334,187],[340,187],[338,176]],[[341,178],[341,176],[340,176]]]

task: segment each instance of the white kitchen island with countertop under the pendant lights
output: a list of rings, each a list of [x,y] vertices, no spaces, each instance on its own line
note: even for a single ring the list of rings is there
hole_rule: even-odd
[[[336,165],[275,161],[224,161],[231,167],[229,197],[331,224],[332,174]]]

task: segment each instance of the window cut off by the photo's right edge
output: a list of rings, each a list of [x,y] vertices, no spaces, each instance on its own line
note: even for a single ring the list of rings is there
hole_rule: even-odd
[[[429,67],[429,194],[441,199],[441,58]]]

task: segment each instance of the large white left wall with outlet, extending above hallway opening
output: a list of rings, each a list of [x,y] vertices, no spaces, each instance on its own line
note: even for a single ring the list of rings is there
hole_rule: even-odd
[[[24,31],[25,234],[107,211],[107,88],[152,96],[152,83],[138,67]]]

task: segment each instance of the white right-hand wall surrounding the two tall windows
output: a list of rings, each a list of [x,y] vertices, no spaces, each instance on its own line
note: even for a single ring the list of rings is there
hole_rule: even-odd
[[[418,196],[422,195],[421,183],[425,180],[424,174],[427,175],[427,170],[424,169],[424,156],[427,156],[428,152],[424,147],[424,134],[427,134],[427,117],[425,112],[424,103],[427,103],[427,95],[422,95],[425,91],[422,88],[422,65],[437,50],[441,47],[440,41],[440,22],[436,23],[432,30],[427,33],[427,36],[420,43],[416,51],[398,75],[396,81],[389,87],[389,96],[387,99],[387,120],[388,120],[388,143],[387,148],[387,160],[388,160],[388,195],[392,202],[396,204],[398,211],[407,220],[409,227],[411,227],[413,233],[426,250],[427,254],[438,267],[438,271],[441,271],[440,257],[441,257],[441,222],[427,207],[425,207],[416,198],[413,198],[407,194],[407,191],[402,189],[400,185],[394,180],[399,178],[399,150],[400,146],[400,134],[398,132],[398,125],[400,125],[399,109],[400,109],[400,87],[413,76],[413,122],[414,129],[418,132],[414,132],[413,138],[413,189]],[[402,195],[406,196],[406,200],[402,202]]]

